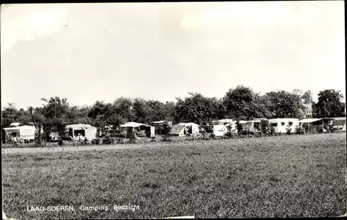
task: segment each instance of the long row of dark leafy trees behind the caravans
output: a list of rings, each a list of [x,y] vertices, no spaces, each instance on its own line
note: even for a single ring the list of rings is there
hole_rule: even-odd
[[[33,124],[44,132],[64,133],[68,124],[91,124],[98,128],[119,126],[126,121],[150,124],[152,121],[209,123],[213,119],[232,118],[247,120],[253,118],[304,117],[304,103],[312,103],[314,117],[344,116],[345,103],[337,90],[323,90],[318,94],[318,103],[312,101],[312,92],[272,91],[260,95],[250,87],[239,85],[231,88],[221,99],[205,97],[201,93],[176,98],[176,103],[156,100],[130,99],[120,97],[113,103],[96,101],[92,106],[70,106],[67,99],[51,97],[42,99],[42,107],[28,107],[17,110],[9,103],[1,111],[1,126],[12,122]]]

